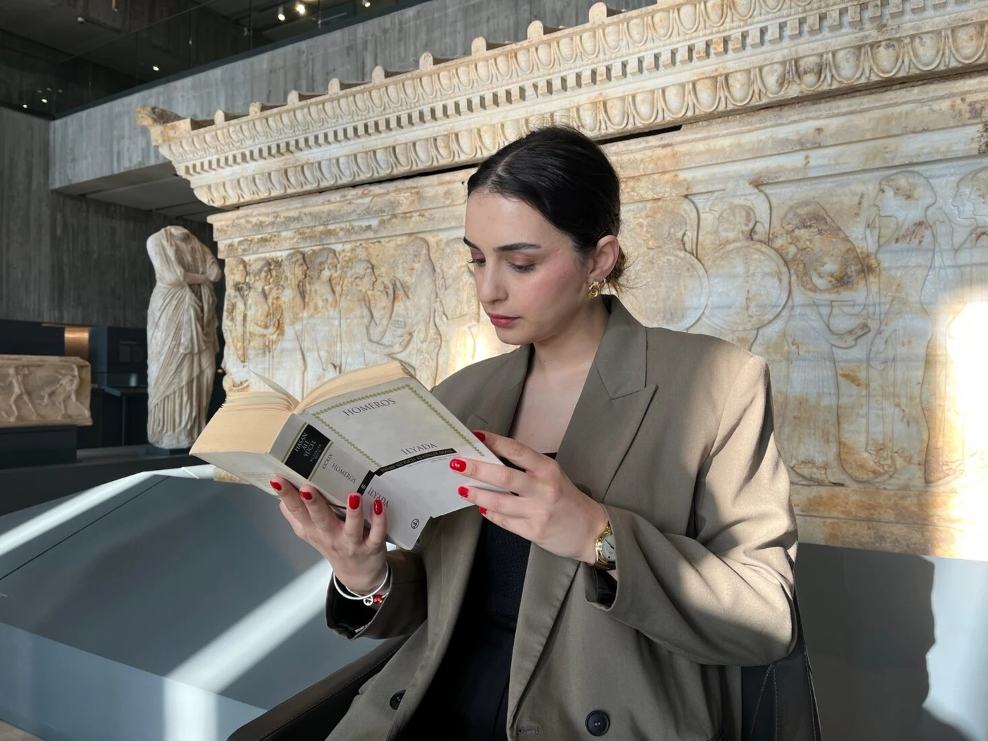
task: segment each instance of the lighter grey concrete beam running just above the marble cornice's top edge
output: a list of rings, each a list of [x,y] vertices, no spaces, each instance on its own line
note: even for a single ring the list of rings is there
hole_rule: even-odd
[[[653,4],[628,0],[621,7]],[[137,106],[211,119],[217,109],[246,111],[253,101],[284,101],[290,90],[323,91],[333,77],[370,79],[377,64],[417,68],[424,51],[468,54],[478,36],[520,41],[535,20],[580,25],[591,5],[592,0],[432,0],[126,96],[51,125],[50,186],[66,188],[165,162],[147,131],[133,123]]]

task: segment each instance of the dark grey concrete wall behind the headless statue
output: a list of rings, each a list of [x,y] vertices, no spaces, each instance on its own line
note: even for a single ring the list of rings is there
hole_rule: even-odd
[[[49,123],[0,109],[0,318],[143,327],[154,271],[144,243],[204,223],[48,190]]]

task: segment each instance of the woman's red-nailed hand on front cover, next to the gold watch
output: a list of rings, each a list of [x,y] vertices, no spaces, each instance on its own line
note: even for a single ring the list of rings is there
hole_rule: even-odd
[[[480,482],[479,486],[460,487],[459,495],[477,505],[480,514],[495,525],[531,540],[550,553],[593,563],[597,559],[595,541],[608,523],[604,506],[577,489],[548,455],[493,433],[482,432],[477,437],[492,453],[523,470],[453,458],[450,463],[453,470]],[[518,496],[491,491],[483,484],[507,489]]]

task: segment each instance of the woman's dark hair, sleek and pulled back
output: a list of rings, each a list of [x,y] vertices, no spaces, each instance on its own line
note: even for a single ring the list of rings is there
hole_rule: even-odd
[[[536,128],[485,159],[466,182],[467,198],[477,192],[532,206],[581,257],[620,230],[617,172],[597,142],[569,126]],[[620,288],[625,262],[621,251],[607,285]]]

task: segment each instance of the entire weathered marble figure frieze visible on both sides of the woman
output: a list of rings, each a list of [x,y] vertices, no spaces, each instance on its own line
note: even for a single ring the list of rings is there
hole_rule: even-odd
[[[984,467],[957,358],[988,299],[988,168],[743,184],[622,215],[639,319],[769,360],[794,483],[950,488]],[[303,394],[391,359],[431,385],[509,349],[458,231],[231,258],[226,274],[229,388],[252,368]]]

